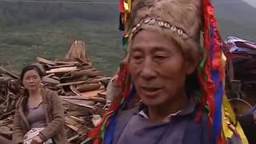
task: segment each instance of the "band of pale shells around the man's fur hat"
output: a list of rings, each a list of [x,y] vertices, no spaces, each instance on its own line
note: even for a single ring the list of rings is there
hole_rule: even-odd
[[[143,25],[160,26],[162,28],[169,29],[170,31],[178,34],[183,39],[189,38],[188,34],[186,34],[186,32],[184,30],[182,30],[182,28],[179,28],[177,26],[173,26],[173,25],[170,24],[170,22],[160,21],[160,20],[155,19],[155,18],[142,19],[142,21],[139,22],[136,26],[134,26],[134,28],[131,30],[131,38],[134,38],[134,35],[142,30]]]

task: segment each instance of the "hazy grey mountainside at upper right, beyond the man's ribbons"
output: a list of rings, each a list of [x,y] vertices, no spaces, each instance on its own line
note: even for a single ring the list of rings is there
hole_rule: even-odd
[[[242,0],[213,0],[222,38],[256,40],[256,8]]]

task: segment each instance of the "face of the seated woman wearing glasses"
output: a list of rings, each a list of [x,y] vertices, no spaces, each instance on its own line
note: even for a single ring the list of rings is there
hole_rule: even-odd
[[[38,90],[41,84],[41,78],[36,70],[28,70],[24,74],[22,83],[27,90]]]

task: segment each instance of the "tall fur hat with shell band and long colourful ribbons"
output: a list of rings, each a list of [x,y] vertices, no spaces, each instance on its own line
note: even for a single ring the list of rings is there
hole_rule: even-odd
[[[195,97],[200,106],[195,121],[206,110],[215,141],[223,143],[224,69],[221,62],[221,38],[210,0],[120,0],[119,7],[120,28],[124,30],[123,44],[127,48],[126,58],[129,57],[130,42],[135,34],[143,29],[158,29],[174,38],[182,50],[189,51],[189,58],[198,62],[200,60],[197,71],[201,90]],[[203,48],[200,46],[201,34]],[[200,57],[202,53],[203,57]],[[94,144],[112,142],[118,110],[126,107],[136,96],[126,62],[120,67],[118,80],[122,84],[120,97],[106,111],[102,123],[91,131],[90,136],[96,138]]]

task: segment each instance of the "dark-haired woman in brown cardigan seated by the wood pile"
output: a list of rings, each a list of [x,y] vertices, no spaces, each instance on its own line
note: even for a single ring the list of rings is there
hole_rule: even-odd
[[[38,66],[26,66],[21,81],[24,94],[14,114],[13,142],[57,143],[67,142],[64,133],[64,108],[52,90],[42,88],[42,71]]]

